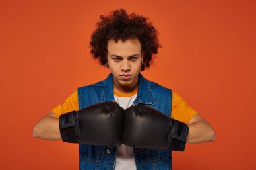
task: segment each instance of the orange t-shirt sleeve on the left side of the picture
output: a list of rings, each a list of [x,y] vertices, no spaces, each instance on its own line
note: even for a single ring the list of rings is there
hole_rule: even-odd
[[[75,91],[75,93],[67,97],[67,99],[63,103],[58,105],[56,108],[53,108],[52,112],[55,114],[57,118],[59,118],[61,114],[65,114],[73,110],[79,110],[77,91]]]

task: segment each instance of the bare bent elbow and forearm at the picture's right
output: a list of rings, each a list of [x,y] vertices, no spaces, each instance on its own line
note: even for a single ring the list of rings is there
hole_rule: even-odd
[[[213,142],[215,140],[214,129],[199,114],[195,114],[187,126],[189,126],[187,144]]]

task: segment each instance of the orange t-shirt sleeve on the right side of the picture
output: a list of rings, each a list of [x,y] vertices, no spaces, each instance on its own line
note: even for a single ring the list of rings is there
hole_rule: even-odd
[[[189,107],[186,101],[177,95],[177,93],[172,92],[171,118],[187,124],[195,114],[197,114],[197,112]]]

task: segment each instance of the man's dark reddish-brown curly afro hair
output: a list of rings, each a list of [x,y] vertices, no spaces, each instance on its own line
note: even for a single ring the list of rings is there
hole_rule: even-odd
[[[148,22],[148,18],[136,13],[127,15],[125,9],[111,11],[109,15],[100,15],[100,22],[96,23],[90,40],[90,53],[93,58],[99,59],[101,65],[106,65],[108,41],[113,39],[125,41],[137,38],[143,51],[141,71],[150,68],[152,55],[162,48],[158,42],[158,31]]]

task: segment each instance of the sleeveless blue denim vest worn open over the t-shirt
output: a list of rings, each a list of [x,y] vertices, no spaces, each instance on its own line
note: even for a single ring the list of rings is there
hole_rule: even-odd
[[[105,80],[93,85],[79,87],[78,99],[79,110],[104,101],[115,101],[113,75],[110,74]],[[133,105],[147,105],[170,117],[172,90],[148,81],[143,75],[139,74],[138,94]],[[79,169],[112,170],[115,165],[116,151],[117,146],[79,144]],[[172,169],[171,150],[138,149],[133,147],[133,151],[137,170]]]

